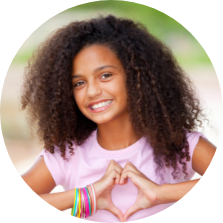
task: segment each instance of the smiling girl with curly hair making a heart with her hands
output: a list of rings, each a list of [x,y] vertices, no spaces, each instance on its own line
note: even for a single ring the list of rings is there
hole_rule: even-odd
[[[21,177],[60,211],[147,218],[189,193],[212,162],[190,80],[140,23],[72,22],[39,46],[25,77],[22,108],[45,148]],[[57,185],[65,192],[50,194]]]

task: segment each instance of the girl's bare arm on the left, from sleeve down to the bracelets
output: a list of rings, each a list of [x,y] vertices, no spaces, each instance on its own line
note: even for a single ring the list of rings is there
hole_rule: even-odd
[[[74,189],[50,194],[56,184],[45,164],[44,157],[39,157],[21,178],[37,196],[57,210],[64,211],[73,207]]]

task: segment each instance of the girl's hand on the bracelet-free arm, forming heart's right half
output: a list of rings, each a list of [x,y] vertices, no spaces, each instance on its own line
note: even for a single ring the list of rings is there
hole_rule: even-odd
[[[138,188],[138,196],[135,204],[125,212],[123,222],[139,210],[158,205],[157,196],[160,187],[158,184],[149,180],[130,162],[126,163],[122,171],[120,184],[123,185],[127,178],[130,178]]]

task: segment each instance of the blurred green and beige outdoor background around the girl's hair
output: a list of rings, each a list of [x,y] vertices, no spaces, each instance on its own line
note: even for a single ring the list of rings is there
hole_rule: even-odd
[[[28,58],[52,31],[71,21],[92,18],[98,14],[113,14],[139,21],[172,49],[177,61],[197,87],[197,92],[210,114],[209,117],[217,117],[217,121],[213,119],[215,131],[208,129],[209,127],[206,130],[207,132],[210,130],[210,134],[213,133],[213,135],[208,133],[208,138],[218,146],[223,122],[221,88],[213,63],[196,39],[196,34],[194,36],[190,33],[189,27],[184,27],[184,24],[176,20],[177,18],[144,4],[124,0],[99,0],[70,7],[47,21],[42,21],[39,27],[33,27],[34,31],[24,39],[20,48],[15,49],[15,55],[12,55],[5,76],[0,100],[2,135],[12,163],[24,162],[30,157],[33,162],[34,157],[42,149],[34,139],[29,138],[24,112],[19,110],[20,87]]]

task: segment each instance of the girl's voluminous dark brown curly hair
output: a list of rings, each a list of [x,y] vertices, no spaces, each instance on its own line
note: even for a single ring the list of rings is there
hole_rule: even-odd
[[[26,67],[21,96],[31,130],[46,150],[54,153],[58,146],[66,159],[65,143],[73,154],[73,143],[82,145],[97,129],[79,110],[71,82],[75,55],[93,44],[109,47],[123,65],[130,121],[152,146],[156,172],[171,165],[175,179],[179,161],[187,175],[183,159],[191,157],[186,132],[201,126],[205,115],[171,50],[128,18],[99,15],[71,22],[39,45]]]

